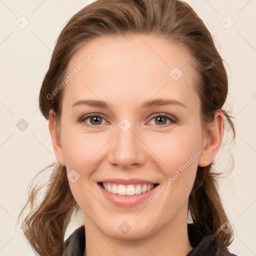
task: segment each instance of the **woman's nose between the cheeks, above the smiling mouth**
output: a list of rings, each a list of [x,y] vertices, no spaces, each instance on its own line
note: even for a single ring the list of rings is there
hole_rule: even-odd
[[[117,127],[116,135],[111,139],[108,151],[108,161],[122,169],[143,165],[146,160],[146,146],[137,135],[133,125],[124,131]]]

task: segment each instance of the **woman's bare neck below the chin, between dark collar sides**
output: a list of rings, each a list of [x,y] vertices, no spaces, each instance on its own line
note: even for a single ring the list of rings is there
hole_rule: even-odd
[[[129,240],[110,237],[99,230],[85,215],[84,223],[84,256],[185,256],[192,249],[187,235],[186,208],[163,228],[140,239],[137,239],[136,235]]]

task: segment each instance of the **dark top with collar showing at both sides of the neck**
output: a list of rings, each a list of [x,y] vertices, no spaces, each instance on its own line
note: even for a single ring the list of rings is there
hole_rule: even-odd
[[[211,236],[202,236],[194,228],[193,223],[187,224],[187,233],[190,245],[193,247],[186,256],[237,256],[228,251],[226,246],[220,245]],[[65,241],[63,256],[83,256],[85,249],[85,228],[78,227]]]

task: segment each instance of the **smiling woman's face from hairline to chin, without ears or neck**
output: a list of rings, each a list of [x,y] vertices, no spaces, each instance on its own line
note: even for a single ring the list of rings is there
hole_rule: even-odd
[[[206,144],[191,58],[136,34],[93,39],[73,55],[56,156],[85,228],[139,239],[186,221]]]

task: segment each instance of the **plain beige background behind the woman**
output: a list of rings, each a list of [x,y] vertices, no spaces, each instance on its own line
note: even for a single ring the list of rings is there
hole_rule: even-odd
[[[38,93],[56,38],[68,18],[91,1],[0,0],[0,255],[34,255],[15,226],[36,172],[55,161],[47,121],[38,109]],[[189,0],[204,20],[226,61],[228,109],[236,125],[229,145],[235,165],[219,183],[224,207],[235,227],[230,251],[256,255],[256,86],[255,0]],[[24,17],[20,16],[23,15]],[[230,18],[226,17],[229,16]],[[16,21],[17,20],[17,21]],[[222,21],[221,21],[222,20]],[[19,26],[21,26],[21,29]],[[24,28],[26,22],[29,24]],[[228,28],[232,22],[234,24]],[[16,123],[25,119],[21,131]],[[226,132],[228,134],[228,130]],[[221,150],[216,169],[231,166]],[[227,173],[230,168],[227,169]],[[49,172],[48,172],[49,173]],[[71,222],[66,236],[82,219]]]

